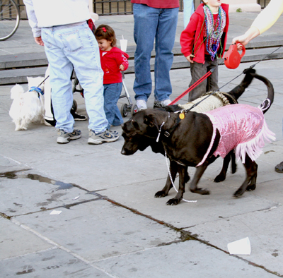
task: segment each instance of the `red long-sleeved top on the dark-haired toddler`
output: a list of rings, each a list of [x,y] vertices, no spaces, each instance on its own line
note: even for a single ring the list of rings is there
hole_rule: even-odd
[[[112,47],[110,51],[103,52],[100,50],[100,62],[101,68],[103,69],[103,84],[113,84],[122,82],[122,73],[119,66],[124,65],[124,71],[129,67],[129,62],[127,60],[129,55],[122,52],[121,49],[117,47]]]

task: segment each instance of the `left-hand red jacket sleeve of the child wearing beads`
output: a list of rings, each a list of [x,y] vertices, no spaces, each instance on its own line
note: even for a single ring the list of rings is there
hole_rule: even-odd
[[[198,21],[198,16],[196,14],[192,14],[189,24],[187,24],[187,27],[180,35],[181,52],[185,57],[192,54]]]

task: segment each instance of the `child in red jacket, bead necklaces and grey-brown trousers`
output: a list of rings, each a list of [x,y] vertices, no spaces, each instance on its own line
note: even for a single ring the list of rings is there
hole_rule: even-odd
[[[229,27],[229,5],[221,0],[202,0],[180,36],[181,52],[190,62],[190,86],[214,68],[206,80],[190,91],[189,102],[204,92],[219,90],[218,62],[224,54]]]

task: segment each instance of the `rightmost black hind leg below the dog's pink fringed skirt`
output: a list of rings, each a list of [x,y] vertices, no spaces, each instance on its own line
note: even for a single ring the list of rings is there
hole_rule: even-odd
[[[244,163],[246,168],[246,180],[234,193],[235,197],[243,195],[245,191],[253,191],[256,188],[256,179],[258,176],[258,164],[256,164],[248,155],[246,155],[246,161]]]

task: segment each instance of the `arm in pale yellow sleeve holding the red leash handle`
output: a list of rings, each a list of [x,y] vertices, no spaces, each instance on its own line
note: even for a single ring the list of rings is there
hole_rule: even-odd
[[[272,25],[275,24],[279,16],[283,13],[283,1],[282,0],[271,0],[270,4],[260,12],[255,18],[248,31],[239,37],[235,37],[232,43],[241,42],[246,45],[250,40],[253,40],[258,35],[268,30]]]

